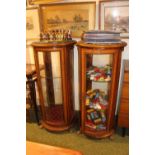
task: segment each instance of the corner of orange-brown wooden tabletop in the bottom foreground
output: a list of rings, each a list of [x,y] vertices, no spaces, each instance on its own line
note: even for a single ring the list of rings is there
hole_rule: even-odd
[[[26,141],[26,155],[82,155],[81,152]]]

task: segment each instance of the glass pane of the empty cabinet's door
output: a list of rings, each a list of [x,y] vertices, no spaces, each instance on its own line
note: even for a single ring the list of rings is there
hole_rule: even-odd
[[[60,52],[38,52],[44,111],[47,121],[63,121]]]

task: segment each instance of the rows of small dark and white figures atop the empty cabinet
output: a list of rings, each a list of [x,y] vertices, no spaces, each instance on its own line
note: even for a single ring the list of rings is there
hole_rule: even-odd
[[[71,40],[72,36],[70,30],[56,29],[40,33],[40,41],[44,42],[71,41]]]

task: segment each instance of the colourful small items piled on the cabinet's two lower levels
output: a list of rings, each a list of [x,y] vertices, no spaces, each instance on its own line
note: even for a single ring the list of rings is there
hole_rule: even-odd
[[[85,126],[95,130],[105,130],[106,126],[106,101],[105,92],[94,89],[88,90],[86,95],[86,123]]]

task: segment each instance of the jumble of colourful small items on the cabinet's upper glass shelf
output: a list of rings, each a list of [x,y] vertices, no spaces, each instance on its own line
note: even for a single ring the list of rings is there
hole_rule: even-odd
[[[92,66],[87,70],[87,77],[92,81],[111,81],[111,74],[111,65],[105,65],[104,67]]]

